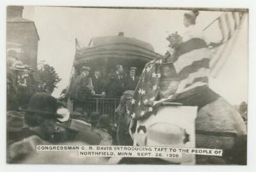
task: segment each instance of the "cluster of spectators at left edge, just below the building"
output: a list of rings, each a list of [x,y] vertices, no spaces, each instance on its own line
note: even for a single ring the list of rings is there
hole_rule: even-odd
[[[35,70],[18,61],[17,52],[14,50],[8,52],[6,67],[7,110],[26,108],[30,97],[36,92],[49,93],[45,81],[35,80]]]

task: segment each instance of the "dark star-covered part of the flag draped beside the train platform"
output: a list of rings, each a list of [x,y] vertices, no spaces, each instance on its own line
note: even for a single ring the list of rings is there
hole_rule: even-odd
[[[161,78],[161,66],[163,61],[157,58],[145,65],[140,81],[131,99],[131,106],[127,107],[127,113],[134,120],[148,118],[153,111],[153,102],[159,93]]]

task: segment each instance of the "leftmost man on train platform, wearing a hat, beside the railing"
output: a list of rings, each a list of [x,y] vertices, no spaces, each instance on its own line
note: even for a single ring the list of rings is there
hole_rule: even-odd
[[[80,75],[77,76],[74,82],[74,89],[72,90],[71,99],[74,100],[74,109],[83,108],[88,97],[95,94],[92,85],[92,79],[90,78],[90,67],[83,66],[80,69]]]

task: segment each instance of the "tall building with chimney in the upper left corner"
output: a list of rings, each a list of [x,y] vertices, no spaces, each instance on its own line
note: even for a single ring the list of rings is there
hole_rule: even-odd
[[[36,69],[38,41],[35,22],[22,18],[23,6],[7,7],[7,54],[15,51],[17,60]]]

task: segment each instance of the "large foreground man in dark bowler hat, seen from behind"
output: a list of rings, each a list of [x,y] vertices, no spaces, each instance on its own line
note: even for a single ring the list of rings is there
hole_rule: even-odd
[[[29,130],[26,138],[8,145],[8,163],[19,163],[35,153],[36,145],[54,143],[56,121],[61,118],[57,113],[57,100],[46,93],[36,93],[29,100],[25,111],[24,124]]]

